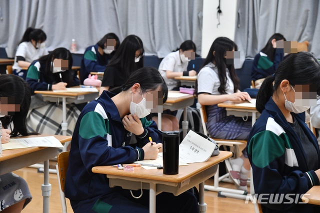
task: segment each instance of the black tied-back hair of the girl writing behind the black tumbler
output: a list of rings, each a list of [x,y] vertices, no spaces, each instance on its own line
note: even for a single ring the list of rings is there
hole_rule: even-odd
[[[162,103],[166,101],[168,96],[168,87],[160,72],[153,67],[143,67],[133,71],[123,85],[112,88],[110,91],[114,93],[127,91],[133,86],[134,83],[139,83],[141,89],[144,91],[152,91],[161,86],[161,91],[163,94]]]

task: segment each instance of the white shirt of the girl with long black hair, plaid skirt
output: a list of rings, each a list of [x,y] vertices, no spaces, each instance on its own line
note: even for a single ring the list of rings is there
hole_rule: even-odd
[[[227,94],[234,93],[234,85],[230,78],[230,72],[228,69],[226,71],[226,88],[225,91]],[[209,94],[218,95],[221,94],[218,91],[220,86],[220,80],[218,75],[218,69],[213,63],[208,63],[206,66],[200,69],[198,76],[198,93],[206,92]]]

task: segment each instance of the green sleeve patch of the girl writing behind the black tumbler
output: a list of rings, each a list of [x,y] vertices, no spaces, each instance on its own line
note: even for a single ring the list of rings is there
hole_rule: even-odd
[[[104,137],[107,133],[103,117],[94,111],[87,112],[81,119],[79,135],[84,139],[90,139],[97,135]]]

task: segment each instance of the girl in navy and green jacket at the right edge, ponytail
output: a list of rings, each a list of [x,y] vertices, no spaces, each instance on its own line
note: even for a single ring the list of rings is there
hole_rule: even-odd
[[[246,148],[255,195],[263,194],[263,212],[320,212],[319,205],[298,204],[308,189],[320,184],[319,146],[304,117],[309,106],[298,104],[309,101],[303,101],[302,86],[314,90],[307,98],[320,94],[320,64],[309,52],[288,55],[257,95],[261,115]]]

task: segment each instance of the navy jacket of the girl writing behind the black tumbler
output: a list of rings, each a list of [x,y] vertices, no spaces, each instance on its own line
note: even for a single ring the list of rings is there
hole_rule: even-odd
[[[126,131],[111,100],[113,95],[103,91],[97,100],[83,108],[76,122],[65,182],[65,196],[73,202],[93,200],[90,203],[93,206],[102,195],[122,190],[119,187],[110,188],[106,175],[93,173],[92,167],[141,160],[144,152],[139,147],[149,142],[149,136],[156,142],[162,140],[162,132],[157,129],[156,123],[146,118],[141,118],[144,126],[141,135],[131,135]]]

